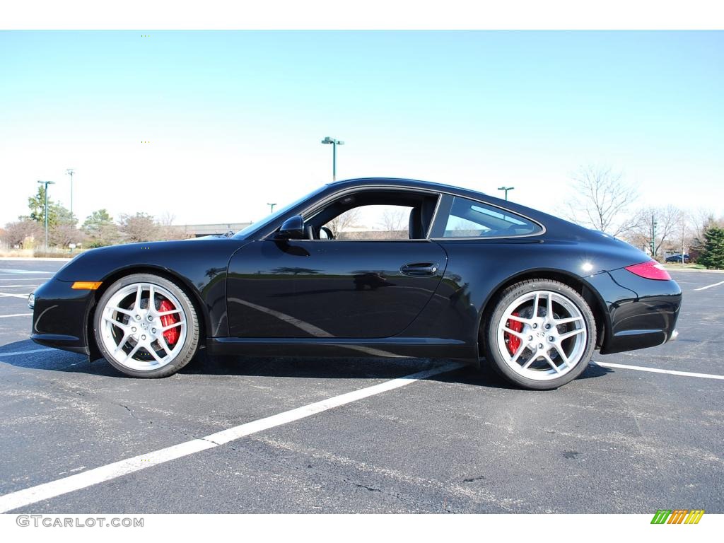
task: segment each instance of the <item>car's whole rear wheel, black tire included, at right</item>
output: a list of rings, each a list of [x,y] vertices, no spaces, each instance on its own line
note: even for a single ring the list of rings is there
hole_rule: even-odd
[[[519,387],[552,390],[588,366],[596,321],[586,300],[568,285],[532,279],[500,294],[481,333],[485,358],[498,374]]]

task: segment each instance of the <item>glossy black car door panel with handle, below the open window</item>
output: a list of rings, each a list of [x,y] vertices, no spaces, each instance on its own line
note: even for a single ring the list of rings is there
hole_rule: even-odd
[[[232,337],[391,337],[434,295],[440,245],[419,240],[259,240],[232,256]]]

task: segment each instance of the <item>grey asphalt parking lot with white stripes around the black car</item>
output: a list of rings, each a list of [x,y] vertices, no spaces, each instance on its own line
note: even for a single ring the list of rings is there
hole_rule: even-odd
[[[677,342],[529,392],[425,359],[202,355],[127,379],[28,340],[27,295],[62,264],[0,260],[0,510],[724,513],[724,274],[671,272]]]

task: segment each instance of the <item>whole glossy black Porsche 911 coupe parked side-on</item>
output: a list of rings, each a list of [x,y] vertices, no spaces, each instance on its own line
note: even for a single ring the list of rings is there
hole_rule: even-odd
[[[365,226],[366,225],[366,226]],[[226,355],[484,358],[530,389],[675,339],[681,290],[602,232],[482,193],[334,182],[230,236],[80,254],[34,292],[35,342],[162,377]]]

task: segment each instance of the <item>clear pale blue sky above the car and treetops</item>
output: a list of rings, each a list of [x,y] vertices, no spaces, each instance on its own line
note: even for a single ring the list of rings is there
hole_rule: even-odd
[[[149,34],[143,38],[142,34]],[[331,177],[416,177],[544,211],[581,164],[724,214],[723,32],[0,32],[0,223],[241,222]],[[150,141],[151,143],[141,143]]]

